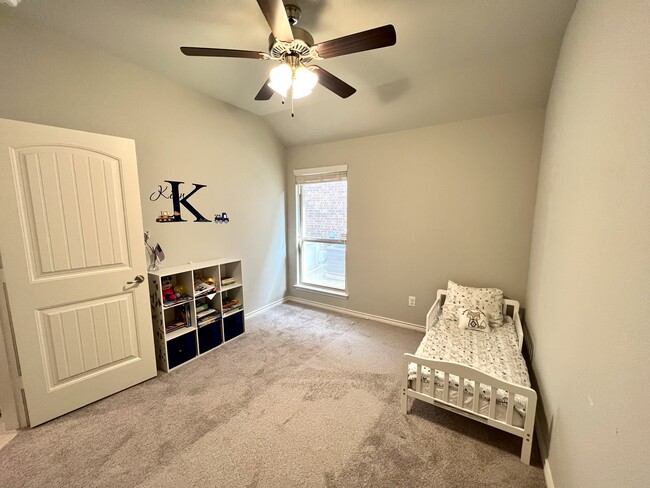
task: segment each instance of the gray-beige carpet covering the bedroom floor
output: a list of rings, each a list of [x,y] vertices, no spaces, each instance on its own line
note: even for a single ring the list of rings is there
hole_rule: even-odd
[[[0,486],[544,486],[520,440],[415,401],[401,355],[422,334],[284,304],[247,334],[32,430]]]

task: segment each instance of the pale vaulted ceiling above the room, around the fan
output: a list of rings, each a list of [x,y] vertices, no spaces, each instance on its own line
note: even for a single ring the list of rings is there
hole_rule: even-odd
[[[292,2],[287,2],[292,3]],[[80,42],[264,117],[287,146],[544,107],[575,0],[295,0],[321,42],[393,24],[392,47],[319,61],[357,88],[318,86],[295,118],[253,98],[272,62],[195,58],[179,47],[265,51],[254,0],[23,0],[2,14]],[[11,12],[9,12],[11,10]]]

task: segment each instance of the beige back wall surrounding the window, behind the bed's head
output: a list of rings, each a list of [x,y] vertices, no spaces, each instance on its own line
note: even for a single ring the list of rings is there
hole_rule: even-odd
[[[543,125],[534,110],[288,149],[289,294],[414,324],[448,279],[522,299]],[[293,169],[336,164],[348,165],[347,300],[293,287]]]

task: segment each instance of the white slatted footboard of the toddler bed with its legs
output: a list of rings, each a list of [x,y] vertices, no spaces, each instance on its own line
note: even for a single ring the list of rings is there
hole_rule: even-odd
[[[408,378],[409,363],[415,363],[417,374],[415,379]],[[436,392],[435,382],[426,381],[422,373],[422,368],[427,367],[431,371],[431,378],[435,372],[444,375],[441,390]],[[453,398],[452,388],[449,386],[449,377],[458,378],[457,392],[454,390],[456,398]],[[473,385],[474,394],[471,404],[468,404],[468,398],[463,385],[466,381]],[[490,402],[487,413],[480,408],[482,388],[490,387]],[[497,389],[503,390],[507,394],[508,402],[505,418],[497,414]],[[527,399],[526,413],[523,418],[523,426],[516,425],[515,416],[520,416],[515,410],[515,395]],[[530,454],[533,444],[533,429],[535,425],[535,410],[537,407],[537,393],[531,388],[515,385],[507,381],[495,378],[482,373],[468,366],[426,359],[413,354],[404,354],[402,369],[402,394],[400,398],[401,410],[408,413],[409,398],[417,398],[432,405],[450,410],[465,417],[483,422],[497,429],[509,432],[522,438],[521,461],[530,464]],[[520,421],[521,423],[521,416]]]

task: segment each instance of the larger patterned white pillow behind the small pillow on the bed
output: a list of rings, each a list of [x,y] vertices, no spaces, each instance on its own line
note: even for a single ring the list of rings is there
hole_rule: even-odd
[[[472,288],[450,280],[447,283],[447,298],[442,306],[442,316],[447,325],[458,324],[460,308],[478,308],[488,316],[492,327],[503,325],[503,291],[498,288]]]

